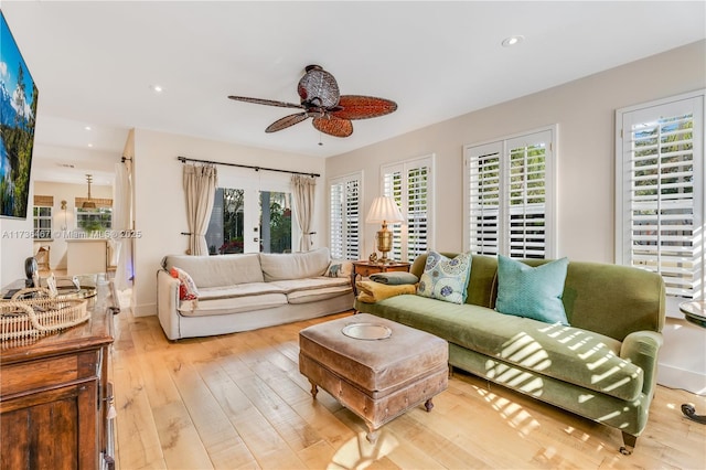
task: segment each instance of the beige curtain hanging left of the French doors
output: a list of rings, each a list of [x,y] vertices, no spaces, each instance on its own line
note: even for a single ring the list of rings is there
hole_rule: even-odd
[[[184,164],[184,192],[186,194],[186,221],[189,223],[190,255],[207,255],[206,231],[213,211],[213,200],[218,175],[213,165]]]

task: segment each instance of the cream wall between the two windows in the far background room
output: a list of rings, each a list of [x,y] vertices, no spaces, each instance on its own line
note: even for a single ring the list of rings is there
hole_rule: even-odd
[[[66,237],[76,229],[76,197],[86,197],[88,183],[51,183],[47,181],[34,182],[34,194],[54,196],[52,207],[53,239],[34,242],[34,253],[40,245],[49,245],[50,267],[52,269],[66,269]],[[90,184],[90,196],[97,199],[111,199],[113,186]],[[62,210],[62,201],[66,201],[66,210]]]

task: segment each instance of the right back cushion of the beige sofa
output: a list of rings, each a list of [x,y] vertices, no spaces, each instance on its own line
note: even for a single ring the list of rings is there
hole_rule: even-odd
[[[329,248],[304,253],[260,253],[266,281],[322,276],[331,261]]]

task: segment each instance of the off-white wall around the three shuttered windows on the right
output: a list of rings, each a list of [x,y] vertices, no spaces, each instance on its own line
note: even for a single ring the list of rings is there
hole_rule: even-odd
[[[686,45],[329,158],[327,177],[363,169],[365,214],[379,193],[382,163],[435,153],[435,248],[460,250],[463,146],[557,124],[558,254],[613,263],[614,110],[706,86],[705,44]],[[403,109],[400,103],[398,113]],[[365,224],[364,229],[364,239],[374,239],[377,227]]]

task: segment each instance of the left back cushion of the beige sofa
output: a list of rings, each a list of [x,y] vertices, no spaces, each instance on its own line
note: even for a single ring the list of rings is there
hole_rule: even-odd
[[[169,270],[172,266],[186,271],[200,291],[206,287],[263,282],[265,280],[257,253],[222,256],[167,256],[164,268]]]

